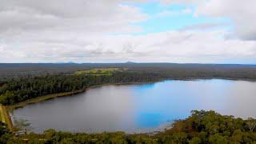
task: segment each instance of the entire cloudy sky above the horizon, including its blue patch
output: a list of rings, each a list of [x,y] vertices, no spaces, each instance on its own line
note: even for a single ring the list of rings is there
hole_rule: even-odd
[[[0,63],[256,64],[255,0],[0,0]]]

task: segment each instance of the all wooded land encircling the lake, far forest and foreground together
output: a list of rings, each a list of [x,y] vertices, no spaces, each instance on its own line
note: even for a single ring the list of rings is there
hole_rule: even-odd
[[[106,68],[107,67],[107,68]],[[122,132],[85,134],[46,130],[15,136],[6,105],[27,103],[81,92],[109,83],[154,82],[173,78],[245,78],[256,80],[256,66],[198,64],[0,64],[0,143],[255,143],[256,120],[194,110],[189,118],[158,134]],[[126,69],[127,68],[127,69]],[[13,71],[15,71],[13,73]],[[18,122],[27,126],[25,121]]]

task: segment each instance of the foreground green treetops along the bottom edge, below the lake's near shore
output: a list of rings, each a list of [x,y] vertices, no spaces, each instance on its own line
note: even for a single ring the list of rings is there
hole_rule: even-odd
[[[234,118],[214,111],[191,112],[191,116],[173,123],[170,130],[158,134],[123,132],[85,134],[46,130],[43,134],[15,137],[0,126],[1,143],[255,143],[256,120]]]

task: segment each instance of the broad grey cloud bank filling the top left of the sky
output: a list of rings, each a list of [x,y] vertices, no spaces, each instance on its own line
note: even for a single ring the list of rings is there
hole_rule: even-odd
[[[148,16],[118,0],[0,0],[0,31],[84,30],[85,32],[133,32],[130,23]]]

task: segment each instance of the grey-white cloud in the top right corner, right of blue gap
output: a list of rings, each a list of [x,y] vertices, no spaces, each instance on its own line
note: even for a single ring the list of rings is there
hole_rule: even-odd
[[[229,18],[234,22],[234,34],[243,39],[256,40],[255,0],[210,0],[198,5],[197,14]]]

